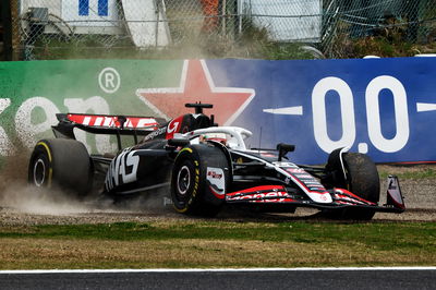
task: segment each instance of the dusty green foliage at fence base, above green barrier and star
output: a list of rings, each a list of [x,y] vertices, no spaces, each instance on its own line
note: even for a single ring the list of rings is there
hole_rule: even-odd
[[[257,27],[249,17],[242,19],[242,32],[234,26],[228,32],[195,33],[179,23],[172,27],[177,43],[165,47],[136,48],[128,36],[82,35],[59,37],[41,35],[33,46],[23,48],[27,60],[58,59],[186,59],[186,58],[251,58],[251,59],[314,59],[301,49],[301,43],[277,43],[266,27]],[[181,31],[180,31],[181,29]],[[181,34],[181,36],[179,36]],[[183,37],[182,37],[183,36]]]

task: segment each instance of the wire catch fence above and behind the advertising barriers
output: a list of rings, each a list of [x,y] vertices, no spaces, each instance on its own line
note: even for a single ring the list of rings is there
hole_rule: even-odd
[[[25,60],[268,59],[290,44],[314,47],[308,51],[315,56],[347,58],[356,39],[436,39],[435,0],[10,1],[14,51]]]

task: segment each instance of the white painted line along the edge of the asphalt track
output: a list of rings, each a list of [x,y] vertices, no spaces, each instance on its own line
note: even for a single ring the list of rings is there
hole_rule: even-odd
[[[218,271],[351,271],[351,270],[436,270],[429,267],[326,267],[326,268],[187,268],[187,269],[49,269],[0,270],[1,274],[86,274],[86,273],[218,273]]]

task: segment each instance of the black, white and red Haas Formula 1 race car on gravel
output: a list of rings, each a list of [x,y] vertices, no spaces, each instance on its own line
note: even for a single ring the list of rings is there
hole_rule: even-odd
[[[288,213],[314,207],[342,219],[404,210],[392,176],[386,204],[378,205],[378,172],[366,155],[338,148],[326,166],[295,165],[287,158],[293,145],[247,148],[244,140],[252,133],[218,126],[214,116],[203,113],[211,105],[186,107],[195,113],[169,122],[153,117],[57,114],[56,138],[36,144],[28,180],[38,188],[58,186],[80,196],[98,191],[119,198],[169,189],[177,212],[201,216],[215,216],[225,204]],[[75,140],[74,129],[112,135],[118,153],[89,155]],[[134,145],[123,148],[121,137],[126,135]]]

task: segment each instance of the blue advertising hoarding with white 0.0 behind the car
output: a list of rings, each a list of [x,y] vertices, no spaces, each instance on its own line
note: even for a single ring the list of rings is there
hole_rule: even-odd
[[[377,162],[436,160],[436,58],[207,64],[217,86],[221,76],[255,90],[233,122],[253,131],[253,146],[295,144],[291,158],[306,164],[346,146]]]

